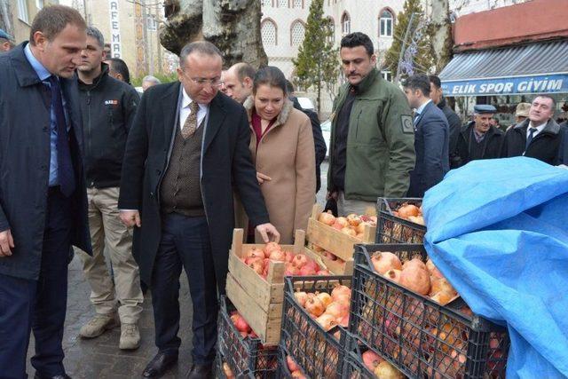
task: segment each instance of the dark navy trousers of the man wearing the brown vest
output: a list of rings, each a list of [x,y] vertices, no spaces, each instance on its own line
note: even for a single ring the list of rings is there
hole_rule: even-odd
[[[152,273],[155,343],[160,352],[177,355],[179,276],[185,269],[193,304],[193,363],[215,359],[217,343],[217,281],[209,227],[205,217],[162,215],[162,241]]]

